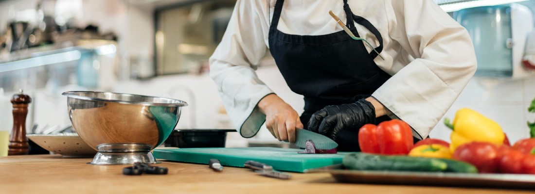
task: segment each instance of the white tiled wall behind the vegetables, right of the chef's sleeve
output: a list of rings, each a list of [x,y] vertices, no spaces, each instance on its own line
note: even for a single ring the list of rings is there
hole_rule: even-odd
[[[528,120],[535,114],[528,113],[528,106],[535,98],[535,77],[510,79],[485,79],[475,77],[461,93],[444,117],[453,119],[456,110],[470,108],[500,124],[511,142],[529,137]],[[449,141],[450,130],[441,122],[430,136]]]

